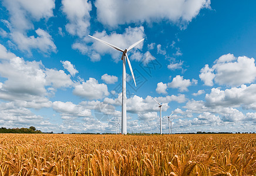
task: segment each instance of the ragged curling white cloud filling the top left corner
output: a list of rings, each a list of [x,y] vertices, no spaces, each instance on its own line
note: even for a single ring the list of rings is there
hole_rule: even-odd
[[[27,36],[29,30],[34,29],[33,21],[48,19],[53,16],[55,2],[46,1],[3,1],[3,5],[9,12],[9,21],[4,21],[9,28],[11,39],[18,45],[23,52],[31,55],[31,49],[38,49],[43,53],[56,52],[56,46],[52,37],[43,29],[36,29],[35,36]]]

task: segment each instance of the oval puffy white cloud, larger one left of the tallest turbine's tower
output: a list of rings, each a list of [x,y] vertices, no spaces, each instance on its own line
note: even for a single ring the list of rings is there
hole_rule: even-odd
[[[98,81],[90,77],[89,80],[82,84],[75,85],[73,93],[77,96],[87,99],[102,99],[109,95],[106,84],[99,84]]]

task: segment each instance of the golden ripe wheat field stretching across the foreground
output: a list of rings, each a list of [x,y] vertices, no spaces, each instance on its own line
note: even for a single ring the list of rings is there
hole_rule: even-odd
[[[0,175],[256,175],[256,134],[0,134]]]

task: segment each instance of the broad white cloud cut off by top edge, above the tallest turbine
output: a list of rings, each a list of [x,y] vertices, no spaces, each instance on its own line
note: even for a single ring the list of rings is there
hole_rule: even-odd
[[[125,23],[151,23],[166,19],[178,25],[186,24],[197,16],[202,8],[210,8],[210,1],[117,1],[97,0],[97,19],[109,26]],[[123,7],[126,8],[123,8]],[[142,11],[143,9],[143,11]]]

